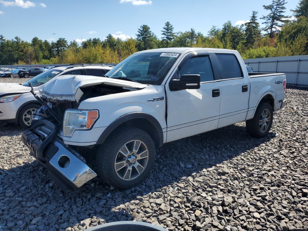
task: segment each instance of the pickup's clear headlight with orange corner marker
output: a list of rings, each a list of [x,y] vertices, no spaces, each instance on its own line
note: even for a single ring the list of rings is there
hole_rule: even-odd
[[[98,117],[98,110],[66,110],[63,120],[63,136],[72,136],[75,130],[91,129]]]

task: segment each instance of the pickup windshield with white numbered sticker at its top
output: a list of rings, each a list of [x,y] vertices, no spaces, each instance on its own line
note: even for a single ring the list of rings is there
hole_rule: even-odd
[[[116,65],[107,75],[109,78],[130,78],[138,83],[160,85],[179,53],[136,53]]]

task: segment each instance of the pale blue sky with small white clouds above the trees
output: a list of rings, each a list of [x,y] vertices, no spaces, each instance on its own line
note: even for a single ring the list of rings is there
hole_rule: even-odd
[[[136,38],[137,28],[150,26],[159,38],[166,21],[175,31],[190,30],[207,34],[213,26],[233,25],[249,19],[252,10],[258,17],[268,12],[262,5],[271,0],[0,0],[0,34],[6,39],[19,36],[28,42],[35,36],[48,41],[64,37],[81,42],[107,34]],[[299,0],[288,0],[287,15]],[[262,20],[259,19],[261,24]],[[239,22],[238,22],[239,23]],[[53,34],[55,33],[55,34]]]

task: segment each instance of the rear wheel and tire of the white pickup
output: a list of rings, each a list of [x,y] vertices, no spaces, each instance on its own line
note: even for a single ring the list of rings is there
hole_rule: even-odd
[[[269,103],[261,102],[251,120],[246,120],[246,131],[250,136],[267,136],[273,123],[273,108]]]

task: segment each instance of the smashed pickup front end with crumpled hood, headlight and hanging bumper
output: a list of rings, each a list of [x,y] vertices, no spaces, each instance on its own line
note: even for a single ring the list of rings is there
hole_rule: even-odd
[[[48,169],[48,175],[60,188],[80,188],[97,174],[74,146],[65,144],[62,136],[91,129],[99,118],[99,111],[79,110],[79,104],[88,98],[144,87],[146,85],[118,79],[63,75],[46,84],[40,95],[32,90],[42,107],[34,112],[32,125],[23,132],[22,142],[29,148],[30,155]],[[70,120],[76,121],[79,127],[71,126]]]

